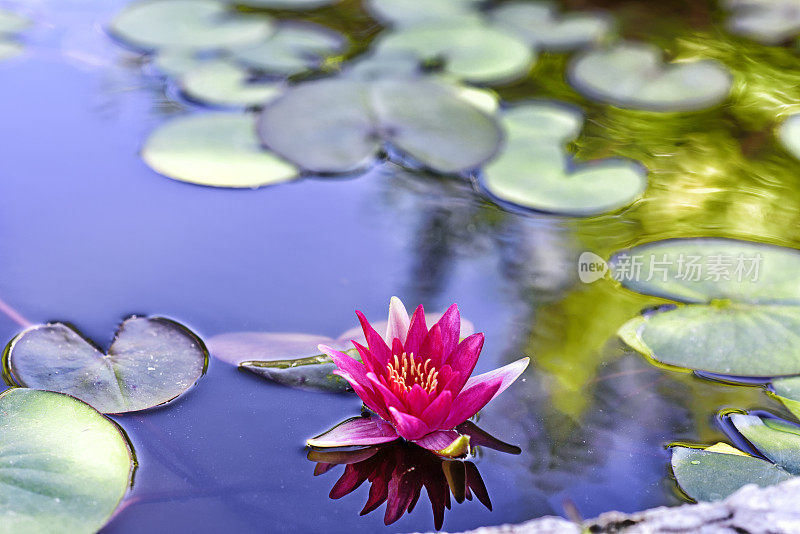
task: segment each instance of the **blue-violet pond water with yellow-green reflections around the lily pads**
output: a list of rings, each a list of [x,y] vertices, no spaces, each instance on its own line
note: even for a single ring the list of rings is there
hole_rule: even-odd
[[[659,238],[800,245],[800,163],[770,133],[787,110],[780,101],[655,123],[651,113],[592,103],[547,78],[564,58],[545,54],[529,78],[499,93],[581,105],[588,120],[571,145],[578,158],[631,157],[651,171],[642,199],[587,219],[501,209],[468,180],[392,163],[254,190],[194,186],[159,176],[139,155],[149,132],[194,104],[107,37],[104,25],[125,2],[102,4],[26,2],[36,23],[27,50],[0,63],[0,297],[28,320],[69,322],[107,346],[131,314],[170,317],[206,339],[235,331],[336,336],[354,325],[355,309],[382,318],[392,295],[428,310],[457,302],[486,334],[476,372],[521,355],[532,364],[480,414],[482,428],[522,453],[487,449],[473,460],[492,510],[453,503],[450,531],[684,502],[664,446],[722,439],[713,417],[721,408],[776,410],[757,388],[661,369],[626,348],[617,329],[667,301],[608,280],[583,284],[576,266],[583,251],[605,257]],[[782,62],[796,67],[796,56],[769,63],[766,47],[722,33],[711,4],[659,2],[642,13],[641,2],[565,2],[610,9],[623,35],[671,53],[738,50],[742,68],[753,54],[763,72],[753,67],[751,84]],[[356,36],[375,31],[352,2],[332,10],[311,18]],[[796,92],[797,78],[784,69],[775,91]],[[3,339],[19,329],[0,316]],[[358,515],[367,485],[331,500],[341,468],[313,476],[304,440],[359,407],[353,396],[277,386],[212,358],[176,401],[113,416],[139,466],[128,502],[104,531],[432,529],[424,497],[387,528],[382,511]]]

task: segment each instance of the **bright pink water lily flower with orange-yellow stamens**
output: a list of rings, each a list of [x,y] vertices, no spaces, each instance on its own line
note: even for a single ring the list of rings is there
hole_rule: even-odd
[[[311,446],[375,445],[402,437],[443,455],[462,455],[469,437],[455,427],[502,393],[528,366],[529,358],[522,358],[470,377],[483,334],[460,340],[461,318],[455,304],[429,330],[422,306],[409,319],[403,303],[393,297],[385,337],[364,314],[356,314],[368,345],[353,341],[361,362],[325,345],[319,349],[333,359],[335,373],[378,417],[348,420],[308,440]]]

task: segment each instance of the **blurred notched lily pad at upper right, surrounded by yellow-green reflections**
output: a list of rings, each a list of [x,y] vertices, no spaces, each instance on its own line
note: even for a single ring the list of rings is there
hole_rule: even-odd
[[[651,111],[694,111],[723,102],[730,73],[711,60],[664,64],[662,51],[621,43],[575,57],[568,69],[575,89],[614,106]]]

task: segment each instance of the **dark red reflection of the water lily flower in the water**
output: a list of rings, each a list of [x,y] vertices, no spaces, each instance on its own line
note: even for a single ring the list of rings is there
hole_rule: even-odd
[[[518,447],[490,436],[474,423],[460,425],[458,431],[470,436],[473,445],[519,454]],[[492,502],[477,466],[467,460],[445,458],[415,445],[396,440],[363,448],[312,448],[308,459],[317,462],[314,475],[327,473],[344,465],[344,473],[333,485],[331,499],[339,499],[369,481],[369,497],[360,515],[368,514],[384,502],[384,523],[390,525],[404,513],[411,513],[422,494],[428,495],[433,509],[436,530],[442,528],[445,508],[450,509],[451,497],[457,503],[475,497],[489,510]]]

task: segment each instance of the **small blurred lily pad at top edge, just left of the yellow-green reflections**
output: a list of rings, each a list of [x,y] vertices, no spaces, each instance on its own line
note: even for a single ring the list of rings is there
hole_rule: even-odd
[[[550,2],[508,2],[491,12],[496,25],[546,50],[574,50],[597,43],[613,28],[601,13],[559,15]]]

